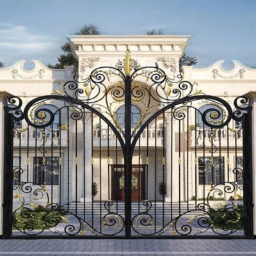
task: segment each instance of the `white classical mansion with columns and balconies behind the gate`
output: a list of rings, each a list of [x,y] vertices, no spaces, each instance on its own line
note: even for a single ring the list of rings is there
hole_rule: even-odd
[[[93,88],[84,80],[85,77],[90,76],[92,70],[97,67],[121,67],[120,65],[124,65],[122,60],[125,58],[125,51],[129,49],[132,59],[140,63],[140,67],[155,67],[157,62],[159,68],[163,69],[168,77],[173,78],[179,74],[179,59],[186,49],[188,39],[189,36],[180,35],[70,36],[68,41],[79,61],[80,83],[77,89],[81,88],[82,93],[77,91],[76,95],[76,90],[68,90],[68,84],[63,87],[63,84],[72,80],[73,67],[54,70],[45,67],[40,61],[34,61],[35,68],[26,70],[23,67],[24,61],[19,61],[12,67],[0,70],[0,91],[4,92],[2,98],[5,99],[9,94],[20,97],[24,108],[36,97],[62,95],[67,89],[72,97],[79,100],[97,99],[97,102],[90,106],[108,117],[120,132],[121,138],[124,138],[124,81],[120,76],[109,73],[108,68],[104,69],[106,80],[102,83],[99,82],[100,77],[96,77],[97,74],[91,77],[99,79],[98,84],[106,86],[105,91],[101,90],[101,94],[98,95],[97,86]],[[116,63],[120,65],[116,66]],[[188,86],[193,88],[180,88],[182,84],[169,81],[163,90],[159,87],[157,89],[157,81],[155,80],[156,83],[152,86],[153,82],[147,77],[147,72],[134,78],[131,108],[134,136],[151,115],[167,105],[161,102],[168,97],[178,99],[185,97],[186,93],[212,95],[228,102],[233,111],[236,97],[246,93],[251,95],[250,97],[255,97],[252,92],[256,86],[256,70],[245,67],[239,61],[234,61],[232,70],[225,70],[222,63],[223,61],[218,61],[207,68],[183,67],[183,80],[189,81]],[[156,72],[156,68],[152,70]],[[147,94],[149,88],[150,95]],[[111,97],[108,96],[109,105],[106,105],[106,97],[100,98],[100,95],[104,95],[108,90]],[[151,101],[147,105],[148,100]],[[2,104],[5,104],[4,100]],[[33,189],[38,188],[38,184],[45,185],[50,203],[60,204],[76,216],[82,216],[81,218],[87,214],[88,219],[84,217],[87,223],[91,223],[92,215],[99,214],[99,211],[100,218],[108,213],[108,209],[101,205],[109,201],[114,202],[116,211],[119,207],[120,215],[124,216],[124,155],[115,133],[104,119],[95,113],[92,114],[90,109],[77,110],[76,104],[68,107],[66,104],[64,108],[63,102],[57,99],[50,99],[31,108],[31,121],[44,120],[46,116],[40,109],[55,111],[53,106],[56,107],[56,115],[49,127],[28,127],[26,120],[15,126],[14,185],[19,185],[20,181],[32,182],[31,186],[35,187]],[[227,109],[220,107],[218,102],[205,99],[193,102],[193,108],[189,106],[185,104],[180,106],[180,109],[177,107],[177,110],[166,109],[141,133],[132,155],[132,217],[144,211],[143,208],[136,209],[143,207],[145,200],[153,203],[152,212],[157,212],[157,216],[162,214],[161,211],[165,211],[161,218],[168,216],[166,219],[196,210],[196,205],[208,202],[207,196],[215,196],[214,199],[226,202],[230,200],[230,196],[242,200],[241,124],[231,120],[224,127],[211,129],[204,125],[202,113],[209,108],[216,109],[212,110],[211,114],[215,113],[217,116],[210,116],[210,119],[218,124],[225,122],[228,116]],[[3,145],[1,147],[3,148]],[[3,163],[3,158],[1,161]],[[20,168],[22,173],[19,175]],[[3,184],[3,171],[1,177]],[[236,184],[236,189],[228,191],[225,189],[225,182]],[[94,189],[97,187],[97,195],[92,193],[92,184]],[[218,184],[221,193],[216,196],[212,194],[211,188]],[[164,190],[166,191],[163,192]],[[163,193],[164,196],[161,195]],[[20,196],[15,195],[20,195],[19,189],[13,191],[13,211],[20,205]],[[24,193],[27,204],[32,203],[34,198],[33,193]],[[37,202],[44,204],[44,200],[45,198],[42,198]],[[156,205],[160,205],[161,208],[157,209]],[[191,218],[191,214],[189,217]],[[157,218],[156,220],[158,221]],[[163,220],[163,227],[168,223],[166,221]],[[100,228],[100,231],[97,228]],[[97,228],[97,232],[101,234],[102,227]]]

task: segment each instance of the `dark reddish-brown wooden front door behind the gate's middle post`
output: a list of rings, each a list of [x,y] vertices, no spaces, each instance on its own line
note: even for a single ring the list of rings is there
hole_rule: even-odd
[[[125,179],[124,179],[124,165],[113,164],[112,171],[112,193],[111,200],[124,201],[125,193]],[[132,201],[145,200],[145,164],[132,165]]]

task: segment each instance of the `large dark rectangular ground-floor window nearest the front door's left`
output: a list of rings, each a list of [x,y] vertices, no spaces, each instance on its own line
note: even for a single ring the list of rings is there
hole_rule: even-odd
[[[33,157],[33,182],[59,184],[59,157]]]

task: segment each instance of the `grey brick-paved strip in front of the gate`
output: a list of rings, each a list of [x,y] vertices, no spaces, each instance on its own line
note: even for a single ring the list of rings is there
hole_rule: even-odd
[[[10,239],[0,255],[256,255],[246,239]]]

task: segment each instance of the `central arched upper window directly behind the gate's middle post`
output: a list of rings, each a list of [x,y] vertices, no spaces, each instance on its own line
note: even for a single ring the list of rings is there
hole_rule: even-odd
[[[141,111],[138,107],[132,105],[131,107],[132,116],[131,116],[131,127],[134,128],[138,121],[141,120]],[[120,106],[120,108],[116,111],[116,121],[120,124],[120,126],[124,129],[125,127],[125,105]]]

